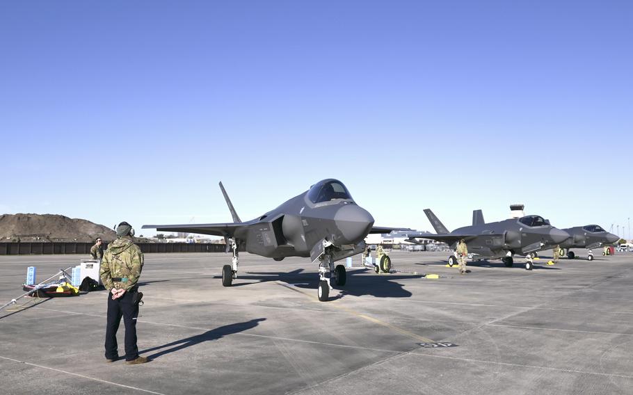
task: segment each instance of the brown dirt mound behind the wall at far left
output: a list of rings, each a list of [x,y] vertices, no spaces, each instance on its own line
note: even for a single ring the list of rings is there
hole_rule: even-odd
[[[104,225],[56,214],[3,214],[0,216],[0,242],[92,243],[97,237],[101,237],[105,242],[113,241],[116,239],[116,233]]]

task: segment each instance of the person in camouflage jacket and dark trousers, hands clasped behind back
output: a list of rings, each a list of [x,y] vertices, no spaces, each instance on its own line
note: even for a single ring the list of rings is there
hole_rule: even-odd
[[[134,229],[127,222],[116,227],[117,239],[104,254],[101,281],[108,294],[108,322],[106,324],[106,362],[118,360],[116,332],[125,324],[125,361],[143,364],[146,357],[138,356],[136,346],[136,317],[138,316],[138,277],[143,270],[143,252],[132,241]]]

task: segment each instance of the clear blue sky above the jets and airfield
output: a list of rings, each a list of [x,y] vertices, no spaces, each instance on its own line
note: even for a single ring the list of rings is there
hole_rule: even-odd
[[[631,1],[3,1],[0,213],[222,222],[222,180],[250,219],[335,177],[376,225],[520,202],[626,227],[632,25]]]

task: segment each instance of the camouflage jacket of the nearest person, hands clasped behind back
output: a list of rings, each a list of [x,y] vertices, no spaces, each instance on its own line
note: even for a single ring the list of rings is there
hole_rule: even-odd
[[[101,262],[101,281],[106,289],[136,288],[143,270],[143,252],[130,236],[122,236],[110,243]],[[114,281],[113,279],[120,279]]]

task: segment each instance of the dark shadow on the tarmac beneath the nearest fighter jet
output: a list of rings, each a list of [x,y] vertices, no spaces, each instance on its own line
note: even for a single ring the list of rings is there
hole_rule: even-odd
[[[362,276],[355,275],[362,273],[371,274]],[[422,275],[377,275],[364,268],[352,269],[347,271],[347,281],[343,287],[332,284],[332,287],[339,291],[339,295],[330,297],[330,300],[340,299],[346,295],[371,295],[376,298],[410,298],[412,293],[403,289],[402,284],[396,281],[422,277]],[[214,278],[222,277],[215,276]],[[248,280],[249,282],[239,282],[240,280]],[[232,287],[269,281],[287,282],[301,289],[316,290],[316,288],[319,287],[319,275],[317,273],[303,273],[303,269],[301,268],[291,272],[249,272],[244,275],[238,275]]]

